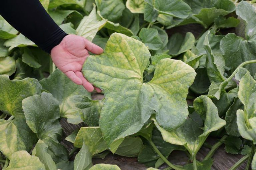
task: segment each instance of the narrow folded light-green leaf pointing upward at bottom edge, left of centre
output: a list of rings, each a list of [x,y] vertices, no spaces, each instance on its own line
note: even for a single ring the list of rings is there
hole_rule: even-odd
[[[84,141],[81,150],[75,157],[74,170],[88,170],[92,166],[92,155]]]

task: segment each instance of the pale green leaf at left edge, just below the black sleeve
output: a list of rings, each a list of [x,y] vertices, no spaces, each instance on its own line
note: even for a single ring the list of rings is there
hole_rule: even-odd
[[[16,37],[16,34],[18,34],[18,31],[0,16],[0,39],[12,39]]]

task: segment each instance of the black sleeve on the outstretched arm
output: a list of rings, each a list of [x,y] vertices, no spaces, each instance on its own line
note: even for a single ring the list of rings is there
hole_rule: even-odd
[[[48,53],[67,35],[39,0],[0,0],[0,15]]]

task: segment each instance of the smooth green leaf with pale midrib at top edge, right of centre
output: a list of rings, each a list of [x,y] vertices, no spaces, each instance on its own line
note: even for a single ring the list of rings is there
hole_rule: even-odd
[[[145,2],[144,19],[148,22],[156,21],[159,14],[185,19],[191,12],[189,5],[182,0],[146,0]]]

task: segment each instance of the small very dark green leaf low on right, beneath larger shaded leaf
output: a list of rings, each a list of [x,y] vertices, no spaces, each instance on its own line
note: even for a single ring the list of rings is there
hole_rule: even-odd
[[[227,153],[238,154],[242,145],[242,140],[239,137],[228,136],[223,143]]]

